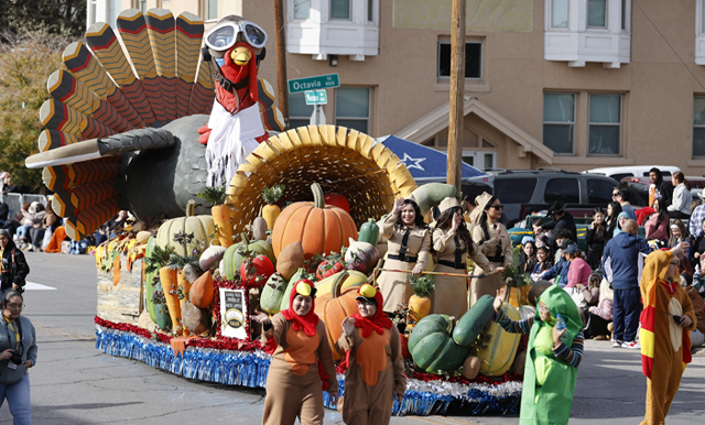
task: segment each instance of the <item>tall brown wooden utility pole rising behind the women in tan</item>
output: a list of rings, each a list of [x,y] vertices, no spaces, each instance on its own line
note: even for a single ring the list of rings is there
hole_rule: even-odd
[[[453,0],[451,26],[451,113],[447,183],[460,189],[463,178],[463,121],[465,120],[465,2]]]

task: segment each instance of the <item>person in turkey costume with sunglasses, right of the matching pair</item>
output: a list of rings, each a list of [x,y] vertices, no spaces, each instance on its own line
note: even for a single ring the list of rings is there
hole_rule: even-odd
[[[343,320],[343,335],[335,345],[348,366],[345,395],[338,406],[348,425],[389,424],[393,397],[401,403],[406,392],[399,330],[381,305],[380,291],[369,284],[360,286],[359,313]]]

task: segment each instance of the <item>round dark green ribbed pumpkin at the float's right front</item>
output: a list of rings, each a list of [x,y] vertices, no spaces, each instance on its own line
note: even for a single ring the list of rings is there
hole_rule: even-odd
[[[409,352],[416,367],[433,374],[458,370],[470,348],[455,344],[452,334],[451,316],[432,314],[422,318],[409,337]]]

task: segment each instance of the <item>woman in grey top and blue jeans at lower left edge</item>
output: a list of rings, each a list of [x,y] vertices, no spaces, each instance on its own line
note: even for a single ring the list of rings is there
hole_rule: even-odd
[[[8,291],[0,302],[0,406],[7,399],[15,425],[32,423],[28,369],[36,363],[34,326],[21,315],[23,303],[18,291]]]

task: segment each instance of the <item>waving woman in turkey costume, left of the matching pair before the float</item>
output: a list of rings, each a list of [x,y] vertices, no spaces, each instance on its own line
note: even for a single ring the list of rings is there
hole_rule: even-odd
[[[293,425],[296,417],[302,425],[323,424],[323,391],[333,402],[338,397],[325,324],[314,313],[315,293],[311,281],[301,280],[291,291],[290,308],[271,319],[264,313],[254,317],[271,324],[264,337],[276,345],[267,375],[263,425]]]

